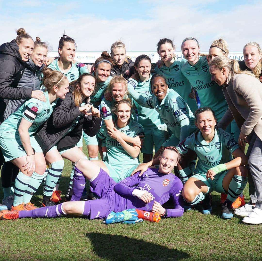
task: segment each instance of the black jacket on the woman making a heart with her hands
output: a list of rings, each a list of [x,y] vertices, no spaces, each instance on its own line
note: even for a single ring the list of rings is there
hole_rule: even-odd
[[[72,89],[70,88],[69,90],[70,92],[65,95],[65,99],[57,102],[56,108],[49,120],[35,134],[35,138],[44,154],[57,142],[58,150],[77,144],[81,138],[83,129],[91,137],[95,136],[100,129],[102,116],[94,117],[89,115],[86,117],[81,114],[78,107],[75,106]],[[64,136],[74,119],[79,115],[81,116],[77,125]]]

